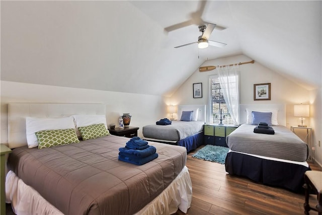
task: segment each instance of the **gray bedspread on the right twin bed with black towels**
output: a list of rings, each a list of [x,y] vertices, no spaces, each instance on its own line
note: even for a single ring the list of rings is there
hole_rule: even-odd
[[[226,137],[229,149],[236,152],[279,158],[290,161],[306,161],[307,144],[282,125],[272,126],[275,134],[254,133],[255,125],[242,124]]]

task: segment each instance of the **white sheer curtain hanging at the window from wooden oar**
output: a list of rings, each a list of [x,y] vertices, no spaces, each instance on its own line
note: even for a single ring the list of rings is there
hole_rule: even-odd
[[[228,111],[234,122],[239,124],[239,65],[217,66],[218,78]]]

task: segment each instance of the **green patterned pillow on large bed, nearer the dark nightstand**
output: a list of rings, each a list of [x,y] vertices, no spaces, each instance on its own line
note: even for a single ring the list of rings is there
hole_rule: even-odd
[[[95,139],[101,136],[110,135],[110,132],[108,129],[106,129],[104,123],[78,127],[78,130],[81,132],[83,140]]]

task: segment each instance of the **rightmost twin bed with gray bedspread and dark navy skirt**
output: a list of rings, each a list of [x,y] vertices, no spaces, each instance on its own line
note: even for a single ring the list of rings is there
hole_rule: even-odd
[[[252,111],[272,112],[275,134],[254,133]],[[240,105],[241,124],[227,138],[229,152],[225,169],[230,175],[255,182],[300,191],[309,149],[305,142],[285,127],[284,105]]]

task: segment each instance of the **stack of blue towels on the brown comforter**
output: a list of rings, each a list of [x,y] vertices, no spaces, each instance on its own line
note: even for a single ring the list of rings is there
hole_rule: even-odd
[[[119,149],[119,160],[135,165],[143,165],[158,157],[156,149],[138,136],[131,138],[125,147]]]

